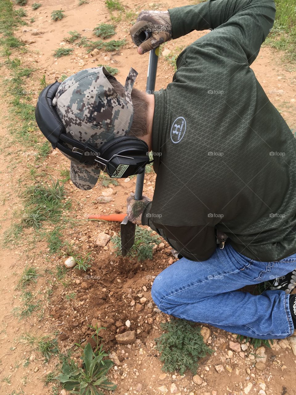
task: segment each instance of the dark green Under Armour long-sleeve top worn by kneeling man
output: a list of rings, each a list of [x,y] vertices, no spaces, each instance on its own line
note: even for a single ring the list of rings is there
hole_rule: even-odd
[[[272,28],[272,0],[169,9],[173,38],[213,29],[154,93],[155,192],[142,224],[207,260],[215,229],[259,261],[296,253],[296,139],[249,65]]]

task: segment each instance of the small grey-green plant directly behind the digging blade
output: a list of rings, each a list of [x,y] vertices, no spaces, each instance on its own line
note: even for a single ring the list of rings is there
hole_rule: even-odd
[[[136,227],[135,232],[135,243],[129,250],[127,255],[132,257],[137,257],[137,259],[141,262],[146,259],[153,258],[153,244],[158,243],[158,236],[151,235],[151,233],[145,228],[141,228],[140,226]],[[120,235],[112,238],[112,243],[114,243],[116,250],[116,255],[120,255],[121,253],[121,240]]]

